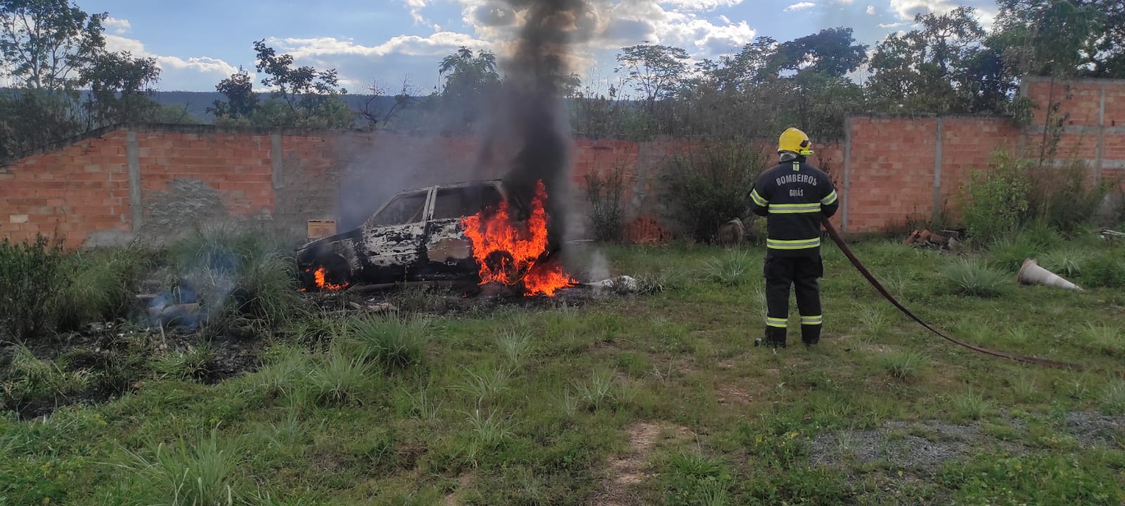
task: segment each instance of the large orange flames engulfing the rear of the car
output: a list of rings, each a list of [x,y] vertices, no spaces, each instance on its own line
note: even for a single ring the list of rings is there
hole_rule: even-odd
[[[480,284],[496,282],[512,286],[522,282],[525,295],[551,297],[559,289],[578,283],[564,273],[561,266],[539,262],[547,251],[546,199],[547,189],[539,181],[531,201],[531,217],[524,229],[512,224],[506,201],[501,201],[492,216],[485,216],[489,211],[485,209],[462,219],[465,235],[472,241],[472,256],[479,265]]]

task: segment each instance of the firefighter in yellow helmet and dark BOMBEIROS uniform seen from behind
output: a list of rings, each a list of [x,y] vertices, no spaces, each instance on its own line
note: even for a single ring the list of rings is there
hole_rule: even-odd
[[[766,255],[762,269],[766,282],[764,342],[785,347],[789,327],[789,289],[795,288],[801,314],[801,341],[820,341],[821,219],[836,214],[839,202],[831,179],[810,165],[809,136],[789,128],[777,142],[780,163],[758,177],[748,193],[750,210],[766,218]],[[756,340],[755,345],[763,340]]]

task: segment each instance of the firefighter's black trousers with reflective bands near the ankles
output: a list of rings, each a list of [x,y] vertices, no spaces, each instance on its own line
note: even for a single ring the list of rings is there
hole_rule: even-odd
[[[796,293],[796,308],[801,314],[801,341],[806,344],[819,342],[824,322],[820,314],[820,278],[825,275],[820,255],[767,254],[762,270],[766,279],[766,342],[785,344],[790,287]]]

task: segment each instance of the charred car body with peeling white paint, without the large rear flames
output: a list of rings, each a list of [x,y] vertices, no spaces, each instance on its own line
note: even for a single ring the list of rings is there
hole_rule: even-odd
[[[501,180],[402,191],[360,226],[300,246],[297,272],[306,289],[357,283],[479,279],[462,220],[507,202],[514,219],[528,207]]]

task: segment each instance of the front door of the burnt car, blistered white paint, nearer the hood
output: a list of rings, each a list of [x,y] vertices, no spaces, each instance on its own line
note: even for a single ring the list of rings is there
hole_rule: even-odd
[[[362,232],[364,257],[377,271],[405,278],[421,263],[433,191],[430,187],[398,193],[368,218]]]

